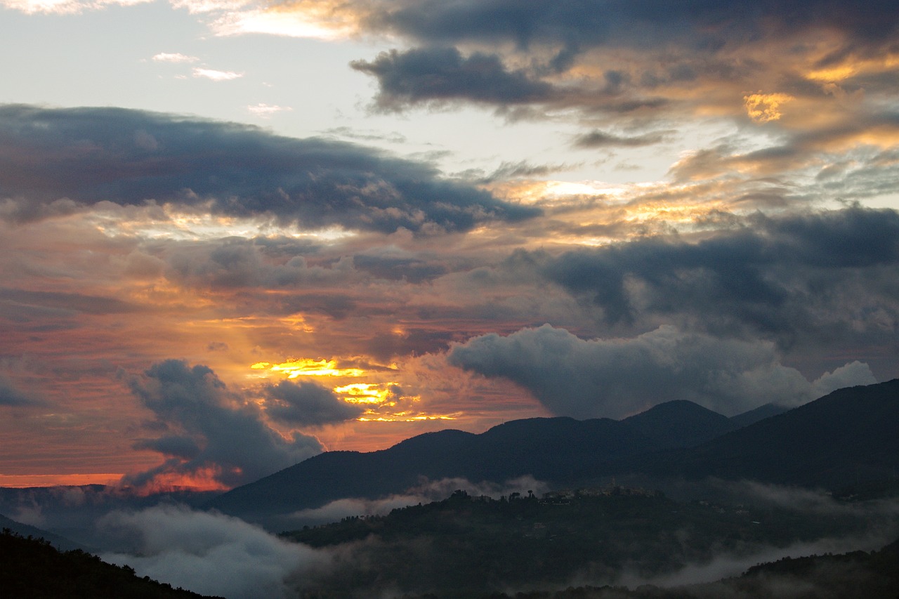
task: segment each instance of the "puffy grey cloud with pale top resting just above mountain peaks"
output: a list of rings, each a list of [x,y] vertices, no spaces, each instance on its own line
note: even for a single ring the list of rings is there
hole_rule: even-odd
[[[673,326],[630,339],[592,340],[549,325],[525,328],[456,345],[449,362],[518,383],[556,416],[620,418],[673,399],[732,416],[769,402],[796,406],[816,397],[799,371],[779,362],[773,344]],[[832,382],[852,376],[864,384],[870,371],[850,365]]]

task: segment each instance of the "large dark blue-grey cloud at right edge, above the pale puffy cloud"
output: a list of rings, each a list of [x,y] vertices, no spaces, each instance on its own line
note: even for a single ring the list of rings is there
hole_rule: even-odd
[[[590,299],[609,326],[662,316],[781,344],[802,331],[849,335],[859,326],[895,335],[899,213],[851,208],[747,224],[697,243],[646,238],[555,257],[519,253],[511,264],[531,264]]]

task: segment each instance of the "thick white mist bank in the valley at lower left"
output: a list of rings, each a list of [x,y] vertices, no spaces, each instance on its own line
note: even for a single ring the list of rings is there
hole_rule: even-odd
[[[127,548],[102,559],[202,595],[294,596],[304,572],[329,563],[324,552],[281,541],[237,518],[177,505],[112,512],[98,526],[107,542]]]

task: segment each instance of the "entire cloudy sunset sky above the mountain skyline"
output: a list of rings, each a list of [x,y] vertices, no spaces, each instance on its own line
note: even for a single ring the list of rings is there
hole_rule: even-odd
[[[899,9],[0,0],[0,486],[899,376]]]

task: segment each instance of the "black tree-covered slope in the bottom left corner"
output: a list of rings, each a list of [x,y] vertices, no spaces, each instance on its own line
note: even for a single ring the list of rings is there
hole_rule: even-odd
[[[0,533],[0,595],[29,599],[203,599],[182,588],[139,578],[82,550],[59,551],[49,541]]]

